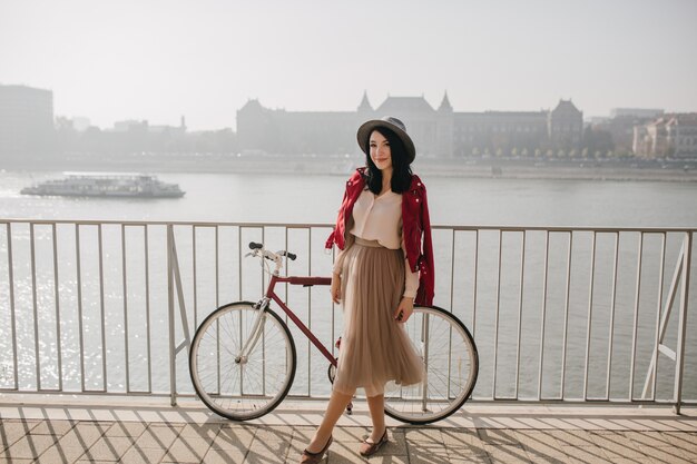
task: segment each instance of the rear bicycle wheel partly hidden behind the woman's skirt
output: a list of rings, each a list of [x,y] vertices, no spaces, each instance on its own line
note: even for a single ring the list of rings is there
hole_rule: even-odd
[[[424,382],[385,387],[385,414],[429,424],[457,412],[472,394],[479,372],[477,345],[467,327],[439,307],[414,307],[404,328],[426,366]]]

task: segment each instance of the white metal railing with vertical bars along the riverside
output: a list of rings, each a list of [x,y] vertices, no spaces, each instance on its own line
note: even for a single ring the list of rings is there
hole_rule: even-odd
[[[265,288],[246,244],[296,253],[288,275],[330,275],[330,230],[0,219],[0,391],[175,403],[193,392],[187,348],[198,323]],[[434,227],[434,303],[464,322],[480,352],[473,398],[695,403],[695,231]],[[286,287],[285,297],[333,346],[341,308],[326,288]],[[302,348],[291,394],[326,396],[326,366],[292,333]]]

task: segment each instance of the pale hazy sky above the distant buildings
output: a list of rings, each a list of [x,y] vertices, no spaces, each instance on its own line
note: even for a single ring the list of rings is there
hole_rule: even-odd
[[[56,115],[235,128],[249,98],[352,111],[421,96],[455,111],[571,98],[697,111],[696,0],[0,0],[0,83]]]

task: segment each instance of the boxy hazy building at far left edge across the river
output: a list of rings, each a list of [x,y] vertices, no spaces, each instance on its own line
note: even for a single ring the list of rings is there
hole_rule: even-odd
[[[53,142],[53,93],[26,86],[0,86],[0,152],[23,157]]]

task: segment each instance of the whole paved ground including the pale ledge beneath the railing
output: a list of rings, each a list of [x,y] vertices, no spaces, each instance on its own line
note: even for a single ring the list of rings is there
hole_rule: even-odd
[[[297,463],[323,402],[284,402],[232,423],[197,401],[0,396],[2,463]],[[325,463],[364,462],[364,403],[344,415]],[[472,404],[430,426],[389,419],[390,443],[372,463],[695,463],[697,409]]]

